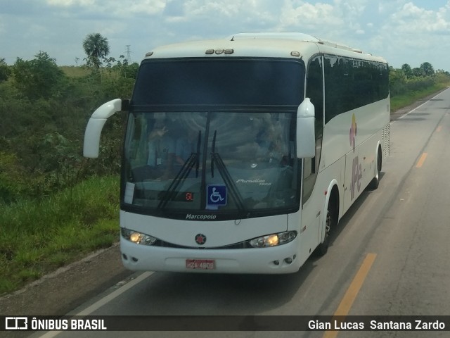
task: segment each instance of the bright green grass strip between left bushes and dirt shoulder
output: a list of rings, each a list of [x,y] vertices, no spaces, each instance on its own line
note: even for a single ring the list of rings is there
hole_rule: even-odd
[[[118,200],[118,177],[94,177],[44,201],[1,206],[0,294],[117,242]]]

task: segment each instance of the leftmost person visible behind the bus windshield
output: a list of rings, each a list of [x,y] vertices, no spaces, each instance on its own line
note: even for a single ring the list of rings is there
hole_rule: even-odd
[[[165,120],[156,120],[153,130],[148,134],[148,159],[150,177],[167,179],[172,175],[175,156],[175,144],[168,134]]]

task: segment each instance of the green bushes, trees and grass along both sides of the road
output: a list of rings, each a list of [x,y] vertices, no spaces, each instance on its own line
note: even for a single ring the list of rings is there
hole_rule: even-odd
[[[105,101],[129,98],[138,64],[108,58],[88,35],[85,65],[0,58],[0,295],[118,240],[124,116],[108,120],[96,160],[82,157],[86,121]],[[392,111],[450,84],[429,63],[390,70]]]

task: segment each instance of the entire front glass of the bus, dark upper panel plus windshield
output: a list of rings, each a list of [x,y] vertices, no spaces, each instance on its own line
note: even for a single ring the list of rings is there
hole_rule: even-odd
[[[217,220],[297,210],[303,88],[302,61],[144,61],[124,145],[122,210]]]

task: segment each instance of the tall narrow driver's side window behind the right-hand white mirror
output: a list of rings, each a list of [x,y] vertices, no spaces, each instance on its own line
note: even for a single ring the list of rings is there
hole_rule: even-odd
[[[309,199],[314,189],[321,158],[323,134],[323,56],[316,56],[309,63],[307,73],[307,97],[314,104],[316,125],[316,156],[305,158],[303,162],[303,203]]]

